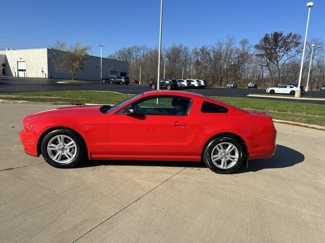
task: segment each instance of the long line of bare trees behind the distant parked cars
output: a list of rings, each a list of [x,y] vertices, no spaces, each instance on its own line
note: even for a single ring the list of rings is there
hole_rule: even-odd
[[[309,87],[318,89],[325,84],[324,42],[313,38],[306,45],[302,84],[306,86],[311,45],[315,44]],[[166,63],[166,78],[206,79],[210,86],[224,87],[235,82],[246,87],[249,82],[258,87],[270,87],[283,83],[298,83],[301,53],[301,36],[298,33],[266,33],[260,41],[251,45],[247,38],[236,44],[234,36],[218,39],[210,46],[189,49],[183,44],[164,48],[161,53],[160,77]],[[127,61],[130,79],[148,84],[157,79],[158,50],[147,46],[122,48],[108,58]]]

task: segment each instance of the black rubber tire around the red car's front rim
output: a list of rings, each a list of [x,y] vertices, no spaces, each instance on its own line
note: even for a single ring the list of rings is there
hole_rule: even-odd
[[[67,163],[58,163],[57,161],[53,160],[47,150],[48,143],[51,141],[51,139],[53,139],[54,137],[56,137],[58,135],[67,136],[67,137],[71,138],[76,144],[76,154],[74,155],[74,158],[72,158]],[[54,131],[48,133],[47,135],[45,135],[45,137],[43,138],[42,143],[41,143],[41,153],[43,155],[43,158],[49,165],[56,167],[56,168],[75,167],[77,164],[79,164],[84,159],[85,152],[86,152],[85,146],[84,146],[84,143],[81,140],[81,138],[76,133],[74,133],[68,129],[57,129],[57,130],[54,130]],[[53,154],[52,154],[52,156],[53,156]],[[62,154],[62,156],[66,156],[66,155]],[[66,157],[66,158],[68,158],[68,157]]]

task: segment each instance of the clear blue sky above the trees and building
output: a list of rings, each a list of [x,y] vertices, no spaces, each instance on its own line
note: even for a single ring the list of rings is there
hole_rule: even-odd
[[[307,13],[302,0],[164,0],[163,46],[211,45],[234,35],[255,44],[273,31],[304,36]],[[77,4],[76,4],[77,3]],[[249,4],[248,4],[249,3]],[[0,48],[42,48],[56,40],[92,46],[103,55],[132,45],[158,45],[160,0],[6,1]],[[325,39],[325,1],[314,1],[308,38]]]

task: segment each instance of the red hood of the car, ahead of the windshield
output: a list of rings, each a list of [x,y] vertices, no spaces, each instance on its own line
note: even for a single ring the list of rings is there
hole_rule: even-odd
[[[101,105],[82,105],[60,107],[51,110],[45,110],[26,116],[27,119],[38,119],[49,115],[77,115],[77,114],[99,114]]]

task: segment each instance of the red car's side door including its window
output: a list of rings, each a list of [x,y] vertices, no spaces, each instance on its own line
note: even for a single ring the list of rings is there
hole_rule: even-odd
[[[175,99],[183,103],[182,113]],[[151,96],[117,111],[109,120],[109,146],[116,155],[181,155],[189,128],[191,100]],[[176,107],[178,107],[176,109]]]

